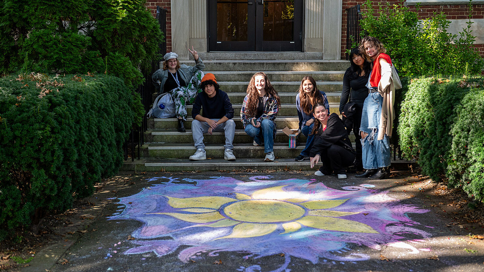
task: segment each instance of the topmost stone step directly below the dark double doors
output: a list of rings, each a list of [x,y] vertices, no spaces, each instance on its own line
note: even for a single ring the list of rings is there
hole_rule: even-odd
[[[205,60],[322,60],[322,52],[203,52]],[[193,61],[193,57],[190,56]]]

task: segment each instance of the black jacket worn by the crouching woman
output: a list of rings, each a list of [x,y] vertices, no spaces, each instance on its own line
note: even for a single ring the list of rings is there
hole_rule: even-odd
[[[329,115],[326,129],[323,133],[318,133],[314,138],[313,147],[311,148],[310,156],[321,155],[323,149],[329,148],[331,145],[339,145],[353,154],[356,154],[348,138],[343,121],[339,119],[336,113]]]

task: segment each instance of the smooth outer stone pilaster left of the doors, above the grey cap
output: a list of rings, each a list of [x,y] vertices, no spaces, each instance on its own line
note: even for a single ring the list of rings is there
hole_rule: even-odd
[[[178,59],[188,60],[190,40],[190,0],[171,1],[171,48]]]

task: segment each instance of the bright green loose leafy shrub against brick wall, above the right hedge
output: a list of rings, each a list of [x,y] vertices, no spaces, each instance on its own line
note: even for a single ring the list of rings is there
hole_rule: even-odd
[[[383,42],[401,76],[481,74],[484,60],[473,47],[472,13],[469,4],[467,27],[455,35],[447,32],[450,21],[443,12],[419,20],[404,1],[394,5],[378,3],[375,11],[373,1],[366,0],[360,24],[362,35]]]

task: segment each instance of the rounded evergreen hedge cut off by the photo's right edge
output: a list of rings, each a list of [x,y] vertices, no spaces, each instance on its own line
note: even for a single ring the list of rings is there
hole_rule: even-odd
[[[449,184],[462,187],[469,195],[484,201],[484,86],[462,81],[472,90],[457,107],[450,135],[451,160],[447,167]]]

